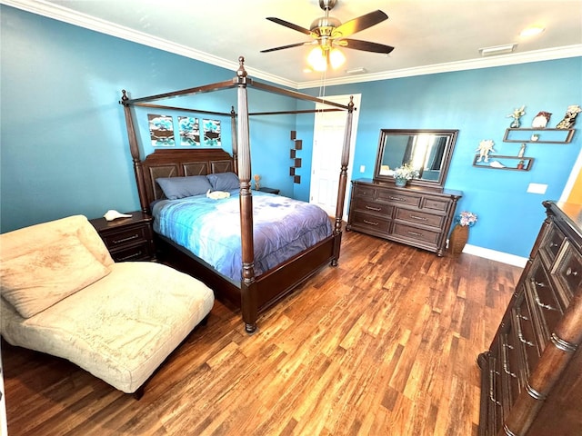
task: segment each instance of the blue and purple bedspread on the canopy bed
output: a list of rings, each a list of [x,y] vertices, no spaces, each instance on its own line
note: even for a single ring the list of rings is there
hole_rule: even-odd
[[[238,191],[213,200],[196,195],[153,207],[154,230],[186,247],[226,277],[240,282],[242,259]],[[255,274],[260,275],[332,233],[315,204],[253,192]]]

